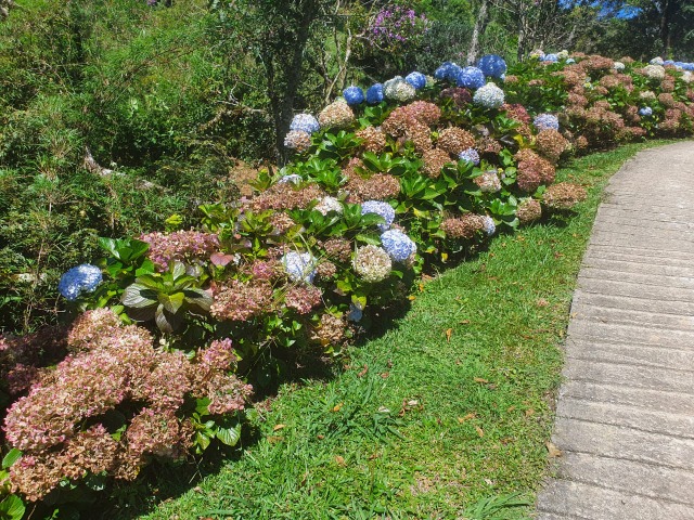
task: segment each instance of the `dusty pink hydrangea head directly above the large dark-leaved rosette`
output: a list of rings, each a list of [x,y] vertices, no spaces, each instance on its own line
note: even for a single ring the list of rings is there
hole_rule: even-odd
[[[219,237],[216,234],[193,230],[169,234],[147,233],[140,239],[150,244],[147,256],[159,271],[166,271],[171,260],[188,263],[208,260],[213,252],[219,250]]]

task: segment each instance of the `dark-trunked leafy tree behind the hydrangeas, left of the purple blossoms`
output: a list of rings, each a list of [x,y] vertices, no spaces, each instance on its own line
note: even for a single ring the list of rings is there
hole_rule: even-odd
[[[262,84],[274,126],[275,157],[287,156],[284,135],[307,82],[321,83],[321,102],[345,84],[352,43],[352,17],[364,17],[373,0],[211,0],[227,41],[264,70]],[[355,14],[357,13],[357,14]],[[327,44],[332,40],[334,44]],[[239,57],[236,57],[239,60]],[[320,79],[319,79],[320,78]],[[301,103],[299,103],[301,102]],[[250,108],[250,109],[255,109]]]

